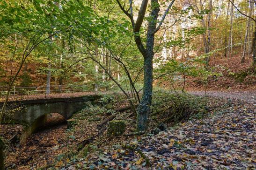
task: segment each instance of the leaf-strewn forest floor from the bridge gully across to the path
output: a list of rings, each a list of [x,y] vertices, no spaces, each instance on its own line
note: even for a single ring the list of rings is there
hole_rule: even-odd
[[[203,91],[193,92],[205,95]],[[73,129],[58,114],[50,116],[44,129],[26,143],[9,145],[7,167],[17,170],[114,169],[255,169],[256,93],[207,92],[208,116],[170,126],[158,135],[98,136],[82,150],[79,143],[97,134],[97,123],[104,118],[78,113]],[[127,105],[116,101],[116,109]],[[102,110],[104,112],[105,110]],[[122,116],[122,115],[121,115]],[[134,130],[134,117],[127,119],[126,133]],[[10,139],[19,125],[0,125],[0,135]]]

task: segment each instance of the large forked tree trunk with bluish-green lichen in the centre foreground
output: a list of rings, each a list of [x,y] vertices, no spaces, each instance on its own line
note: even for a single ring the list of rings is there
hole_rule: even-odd
[[[160,29],[169,9],[172,7],[175,0],[172,0],[168,5],[165,13],[163,14],[159,24],[157,20],[160,12],[160,4],[158,0],[151,0],[151,12],[149,14],[148,26],[146,29],[146,46],[142,42],[140,28],[143,20],[145,19],[146,8],[148,0],[142,0],[137,20],[133,18],[132,0],[129,1],[129,8],[126,10],[125,5],[122,5],[120,0],[117,3],[121,10],[126,14],[132,23],[134,40],[137,48],[144,58],[144,83],[143,83],[143,94],[141,102],[137,109],[137,130],[144,131],[148,125],[148,115],[150,112],[150,105],[152,103],[152,92],[153,92],[153,57],[154,57],[154,37],[155,33]]]

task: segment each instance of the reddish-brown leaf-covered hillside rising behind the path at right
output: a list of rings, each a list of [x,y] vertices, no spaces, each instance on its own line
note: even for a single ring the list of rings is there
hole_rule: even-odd
[[[241,63],[241,54],[233,57],[211,57],[209,69],[220,76],[208,78],[208,91],[247,91],[256,90],[256,73],[252,72],[251,58],[248,56]],[[183,85],[183,81],[177,83],[177,87]],[[169,86],[171,87],[171,86]],[[185,89],[188,91],[200,91],[205,89],[200,77],[186,77]]]

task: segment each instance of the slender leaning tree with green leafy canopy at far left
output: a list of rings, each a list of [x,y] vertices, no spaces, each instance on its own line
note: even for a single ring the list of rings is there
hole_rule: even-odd
[[[0,112],[0,123],[5,112],[10,89],[21,72],[26,59],[38,46],[51,37],[57,36],[60,32],[67,32],[71,27],[79,27],[81,24],[76,19],[81,15],[83,15],[82,24],[87,26],[87,33],[91,33],[89,29],[91,25],[88,21],[93,20],[93,11],[90,7],[84,7],[80,3],[80,1],[71,0],[63,3],[61,8],[56,7],[54,2],[46,0],[24,4],[22,1],[15,0],[0,3],[1,41],[15,37],[13,51],[11,51],[12,58],[17,57],[20,60],[15,74],[11,73],[9,78],[7,94]]]

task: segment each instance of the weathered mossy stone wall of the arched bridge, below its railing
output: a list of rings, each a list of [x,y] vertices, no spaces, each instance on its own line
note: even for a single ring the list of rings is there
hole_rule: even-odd
[[[87,95],[70,98],[46,98],[8,102],[8,106],[17,104],[22,109],[17,109],[12,115],[12,121],[27,125],[25,138],[37,128],[44,125],[47,115],[59,113],[66,120],[86,106],[87,102],[94,102],[100,95]]]

